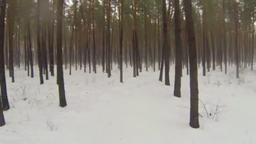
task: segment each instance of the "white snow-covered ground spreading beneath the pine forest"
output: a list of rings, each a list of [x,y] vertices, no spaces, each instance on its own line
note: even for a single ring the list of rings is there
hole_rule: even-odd
[[[117,68],[111,78],[97,70],[64,71],[68,105],[60,108],[56,77],[39,85],[38,72],[30,78],[16,69],[16,83],[7,77],[11,109],[0,144],[256,144],[256,71],[240,70],[237,80],[235,67],[206,77],[199,69],[200,128],[193,129],[185,69],[181,98],[173,96],[173,66],[171,86],[151,68],[137,78],[125,69],[123,84]]]

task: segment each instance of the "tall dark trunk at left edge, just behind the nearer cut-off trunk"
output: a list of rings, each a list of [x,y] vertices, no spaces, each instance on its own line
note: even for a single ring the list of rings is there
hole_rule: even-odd
[[[6,8],[6,0],[2,0],[0,3],[0,125],[4,125],[4,117],[3,117],[3,109],[10,109],[6,88],[6,80],[5,80],[5,60],[4,60],[4,27],[5,27],[5,8]],[[2,101],[2,103],[1,103]],[[2,107],[3,105],[3,107]],[[2,109],[3,108],[3,109]]]

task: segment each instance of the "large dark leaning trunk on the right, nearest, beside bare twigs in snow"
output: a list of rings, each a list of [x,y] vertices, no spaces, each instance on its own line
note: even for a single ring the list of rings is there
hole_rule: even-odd
[[[190,76],[190,120],[189,125],[192,128],[199,128],[198,114],[198,81],[197,81],[197,52],[195,43],[195,29],[192,18],[191,0],[183,0],[186,29],[189,45],[189,76]]]

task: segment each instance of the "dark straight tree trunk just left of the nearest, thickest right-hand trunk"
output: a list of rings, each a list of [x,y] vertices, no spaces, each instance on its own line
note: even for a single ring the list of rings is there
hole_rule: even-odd
[[[174,96],[181,97],[182,47],[181,47],[181,14],[179,0],[174,1],[175,21],[175,81]]]

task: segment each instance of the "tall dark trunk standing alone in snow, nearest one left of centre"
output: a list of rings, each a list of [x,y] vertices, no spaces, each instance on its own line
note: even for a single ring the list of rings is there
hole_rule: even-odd
[[[63,78],[62,62],[62,23],[63,23],[63,0],[58,0],[57,5],[57,82],[59,86],[59,105],[66,107],[66,96]]]

